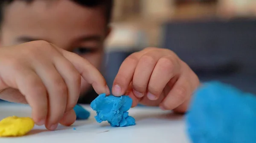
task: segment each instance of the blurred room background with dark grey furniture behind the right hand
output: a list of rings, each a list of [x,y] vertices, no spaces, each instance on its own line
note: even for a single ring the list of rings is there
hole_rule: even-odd
[[[112,26],[110,86],[129,54],[154,46],[177,53],[202,82],[256,94],[256,0],[115,0]]]

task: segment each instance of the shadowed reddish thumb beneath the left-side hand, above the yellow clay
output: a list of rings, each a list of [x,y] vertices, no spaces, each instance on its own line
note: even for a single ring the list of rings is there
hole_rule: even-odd
[[[1,90],[0,99],[9,102],[27,104],[26,98],[20,93],[20,91],[13,88]]]

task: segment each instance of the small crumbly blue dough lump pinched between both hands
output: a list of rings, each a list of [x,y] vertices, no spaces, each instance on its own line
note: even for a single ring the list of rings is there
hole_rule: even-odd
[[[135,125],[135,119],[128,115],[131,108],[132,99],[129,96],[122,95],[116,97],[113,95],[106,96],[100,94],[94,99],[90,107],[96,111],[95,119],[98,123],[108,121],[111,126],[132,126]]]

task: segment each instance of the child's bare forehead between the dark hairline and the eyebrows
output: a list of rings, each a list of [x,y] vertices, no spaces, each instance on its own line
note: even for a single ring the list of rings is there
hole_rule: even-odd
[[[84,28],[105,29],[106,23],[100,7],[87,8],[70,0],[56,0],[55,3],[45,0],[25,3],[17,0],[6,8],[3,25],[24,29],[62,27],[81,31]]]

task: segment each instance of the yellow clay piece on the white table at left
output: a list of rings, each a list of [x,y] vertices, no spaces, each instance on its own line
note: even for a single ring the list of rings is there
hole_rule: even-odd
[[[0,137],[26,135],[34,128],[35,122],[29,117],[7,117],[0,121]]]

